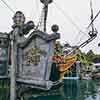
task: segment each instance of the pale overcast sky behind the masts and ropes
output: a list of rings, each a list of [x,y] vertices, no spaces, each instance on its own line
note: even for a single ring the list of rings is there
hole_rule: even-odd
[[[43,5],[40,0],[4,0],[15,12],[22,11],[26,17],[26,22],[33,20],[38,23]],[[100,0],[93,1],[94,16],[100,10]],[[90,0],[53,0],[49,5],[47,32],[52,33],[51,26],[59,25],[60,41],[68,42],[71,45],[79,45],[88,39],[87,26],[90,23]],[[0,32],[10,32],[12,30],[14,13],[11,12],[0,0]],[[93,50],[100,54],[100,15],[94,21],[94,26],[98,30],[95,40],[82,48],[83,51]],[[80,32],[82,31],[82,32]]]

